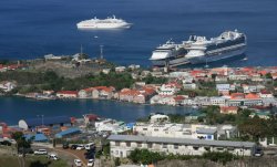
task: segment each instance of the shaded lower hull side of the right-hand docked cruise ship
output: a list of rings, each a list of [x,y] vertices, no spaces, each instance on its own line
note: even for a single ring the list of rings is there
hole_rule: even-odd
[[[215,62],[215,61],[242,55],[245,53],[245,51],[246,51],[246,46],[243,46],[238,50],[218,52],[217,54],[214,54],[214,55],[205,54],[202,56],[189,58],[188,61],[191,64],[202,64],[202,63]]]

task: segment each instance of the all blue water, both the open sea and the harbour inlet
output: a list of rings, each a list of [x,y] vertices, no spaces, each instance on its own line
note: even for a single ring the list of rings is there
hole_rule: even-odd
[[[79,21],[115,14],[134,23],[130,30],[79,31]],[[168,39],[191,34],[218,35],[238,29],[247,34],[247,60],[222,66],[277,65],[276,0],[1,0],[0,59],[33,59],[44,54],[74,54],[83,45],[91,56],[117,64],[151,65],[152,50]],[[95,39],[94,36],[99,38]],[[0,121],[17,124],[37,115],[105,117],[134,121],[151,112],[185,113],[183,107],[144,106],[106,101],[32,101],[0,97]]]

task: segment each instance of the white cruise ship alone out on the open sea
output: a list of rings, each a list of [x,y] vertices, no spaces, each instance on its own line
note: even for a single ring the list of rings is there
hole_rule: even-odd
[[[106,19],[98,19],[96,17],[91,20],[84,20],[76,24],[78,29],[129,29],[131,23],[125,20],[116,19],[115,15]]]

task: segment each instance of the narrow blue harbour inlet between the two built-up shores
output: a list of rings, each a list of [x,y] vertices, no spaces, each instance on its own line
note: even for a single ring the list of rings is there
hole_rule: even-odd
[[[93,113],[102,117],[115,118],[124,122],[134,122],[150,113],[179,113],[187,114],[194,109],[188,107],[152,106],[116,101],[96,100],[57,100],[35,101],[22,97],[0,97],[0,123],[16,125],[21,118],[32,118],[37,115],[48,116],[75,116]]]

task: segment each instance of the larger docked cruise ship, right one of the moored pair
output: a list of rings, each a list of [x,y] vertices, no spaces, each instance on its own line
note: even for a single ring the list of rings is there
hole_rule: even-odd
[[[207,63],[242,55],[246,50],[246,35],[235,31],[225,31],[217,38],[207,40],[205,36],[194,36],[187,49],[186,59],[192,64]]]

